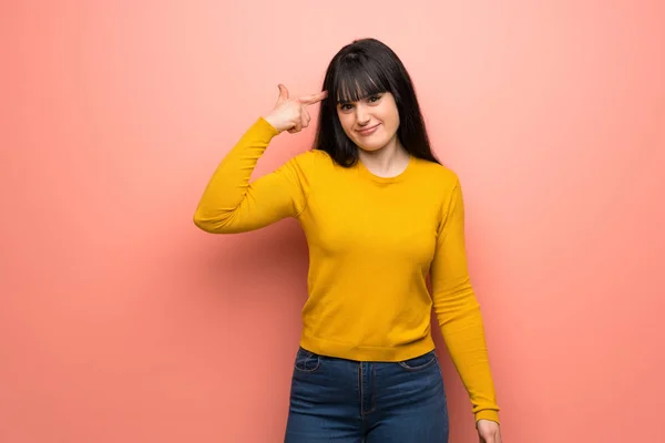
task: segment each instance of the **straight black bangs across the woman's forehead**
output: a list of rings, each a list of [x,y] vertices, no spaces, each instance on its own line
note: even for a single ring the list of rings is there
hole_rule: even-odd
[[[331,95],[337,99],[337,103],[349,103],[387,91],[390,91],[388,78],[376,63],[349,58],[339,65]]]

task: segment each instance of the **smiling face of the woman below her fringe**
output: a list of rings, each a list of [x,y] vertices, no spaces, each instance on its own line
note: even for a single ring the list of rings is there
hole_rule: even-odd
[[[397,137],[399,112],[389,92],[339,103],[337,115],[347,136],[364,151],[377,151]]]

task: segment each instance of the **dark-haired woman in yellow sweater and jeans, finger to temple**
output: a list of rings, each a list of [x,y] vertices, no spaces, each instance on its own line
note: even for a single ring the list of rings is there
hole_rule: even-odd
[[[319,102],[314,150],[249,183],[272,138],[307,127]],[[285,441],[447,442],[433,307],[481,440],[499,443],[460,183],[432,154],[409,74],[383,43],[342,48],[320,93],[294,99],[279,85],[275,107],[217,167],[194,223],[228,234],[285,217],[299,220],[310,258]]]

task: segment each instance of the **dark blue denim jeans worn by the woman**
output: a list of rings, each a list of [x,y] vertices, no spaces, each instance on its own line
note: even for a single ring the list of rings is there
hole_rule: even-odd
[[[437,354],[359,362],[298,349],[285,443],[447,443]]]

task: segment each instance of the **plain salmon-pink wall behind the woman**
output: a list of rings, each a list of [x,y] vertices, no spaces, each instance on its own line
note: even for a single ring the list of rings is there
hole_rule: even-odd
[[[665,441],[665,3],[241,3],[0,7],[0,442],[280,441],[304,237],[192,215],[277,83],[366,35],[466,184],[505,442]]]

